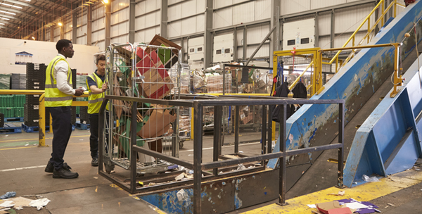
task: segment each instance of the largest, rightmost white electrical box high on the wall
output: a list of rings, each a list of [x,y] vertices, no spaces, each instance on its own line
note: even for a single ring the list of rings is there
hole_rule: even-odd
[[[283,50],[312,49],[315,47],[315,19],[283,24]]]

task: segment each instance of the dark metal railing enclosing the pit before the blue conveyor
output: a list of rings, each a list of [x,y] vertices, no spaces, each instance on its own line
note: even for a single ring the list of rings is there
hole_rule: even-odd
[[[205,180],[212,180],[222,177],[227,177],[230,175],[239,175],[239,172],[227,172],[219,174],[219,168],[225,168],[233,165],[238,165],[241,163],[251,163],[261,161],[261,167],[259,170],[266,170],[264,161],[272,158],[279,158],[280,160],[280,169],[279,169],[279,204],[286,205],[286,158],[288,156],[295,156],[301,153],[309,153],[312,151],[323,151],[327,149],[338,149],[338,187],[343,187],[343,134],[344,134],[344,113],[345,113],[345,101],[344,100],[307,100],[307,99],[280,99],[274,97],[263,97],[263,96],[250,96],[246,99],[242,99],[241,96],[232,98],[230,96],[219,97],[214,99],[186,99],[183,100],[184,96],[181,96],[181,100],[160,100],[160,99],[143,99],[135,97],[123,97],[123,96],[110,96],[106,95],[105,102],[101,106],[100,110],[100,122],[99,130],[103,130],[103,120],[104,120],[104,109],[108,100],[120,100],[127,101],[132,103],[132,111],[136,111],[137,103],[153,103],[165,106],[183,106],[188,108],[193,108],[193,120],[194,122],[194,134],[193,134],[193,163],[186,160],[181,160],[180,158],[166,156],[165,154],[159,153],[157,151],[151,151],[149,149],[143,149],[141,146],[136,146],[136,118],[132,118],[132,137],[130,139],[131,144],[131,156],[136,156],[136,152],[144,153],[148,156],[153,156],[154,158],[160,158],[162,160],[174,163],[177,165],[184,166],[188,169],[193,169],[193,179],[184,180],[181,182],[170,182],[165,184],[156,185],[155,187],[136,187],[136,158],[131,158],[130,160],[130,178],[124,181],[117,180],[117,175],[108,175],[103,170],[103,160],[104,160],[104,144],[105,139],[103,138],[103,133],[100,133],[99,142],[99,165],[98,165],[98,174],[106,177],[106,179],[114,182],[117,186],[122,189],[129,191],[131,194],[136,192],[146,192],[153,190],[165,190],[170,187],[184,187],[186,184],[193,185],[193,213],[201,213],[201,184]],[[314,146],[305,149],[296,149],[286,151],[286,113],[287,106],[290,104],[338,104],[338,143],[328,144],[324,146]],[[224,106],[236,106],[238,109],[240,106],[262,106],[263,111],[262,115],[262,154],[257,156],[248,156],[240,157],[232,160],[219,160],[221,153],[221,136],[222,136],[222,108]],[[271,109],[276,106],[281,105],[281,124],[280,124],[280,137],[285,139],[281,141],[281,151],[276,153],[271,153],[271,113],[267,114],[267,109],[269,112],[272,112]],[[214,106],[215,108],[215,125],[214,125],[214,141],[213,141],[213,156],[212,162],[203,163],[203,108],[205,106]],[[266,115],[266,116],[264,116]],[[236,117],[238,120],[238,117]],[[267,122],[269,121],[269,122]],[[238,121],[236,121],[238,123]],[[238,130],[235,131],[238,139]],[[267,137],[268,135],[268,137]],[[238,144],[235,145],[235,153],[238,152]],[[212,172],[207,172],[206,170],[212,170]],[[248,172],[245,170],[245,172]],[[242,172],[240,172],[242,173]],[[204,176],[204,177],[203,177]],[[125,182],[126,181],[126,182]],[[129,184],[127,183],[129,182]]]

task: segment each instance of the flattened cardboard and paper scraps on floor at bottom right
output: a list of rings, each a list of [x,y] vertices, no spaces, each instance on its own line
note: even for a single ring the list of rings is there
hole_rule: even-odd
[[[312,208],[312,204],[308,204]],[[351,214],[351,213],[381,213],[377,210],[378,206],[366,201],[356,201],[354,199],[342,199],[326,203],[316,203],[317,210],[312,210],[312,213],[322,214]],[[394,205],[393,205],[394,206]]]

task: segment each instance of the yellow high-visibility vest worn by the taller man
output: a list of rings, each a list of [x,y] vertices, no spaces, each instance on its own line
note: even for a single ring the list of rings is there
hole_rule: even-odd
[[[57,88],[54,67],[59,61],[65,61],[68,64],[68,84],[72,87],[72,70],[70,70],[68,61],[63,56],[56,56],[46,69],[46,94],[44,98],[46,107],[72,106],[72,95],[65,94]]]

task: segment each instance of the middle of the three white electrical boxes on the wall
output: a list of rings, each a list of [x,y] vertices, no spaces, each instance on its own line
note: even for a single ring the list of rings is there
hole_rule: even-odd
[[[221,63],[233,61],[233,44],[233,34],[215,36],[212,62]]]

